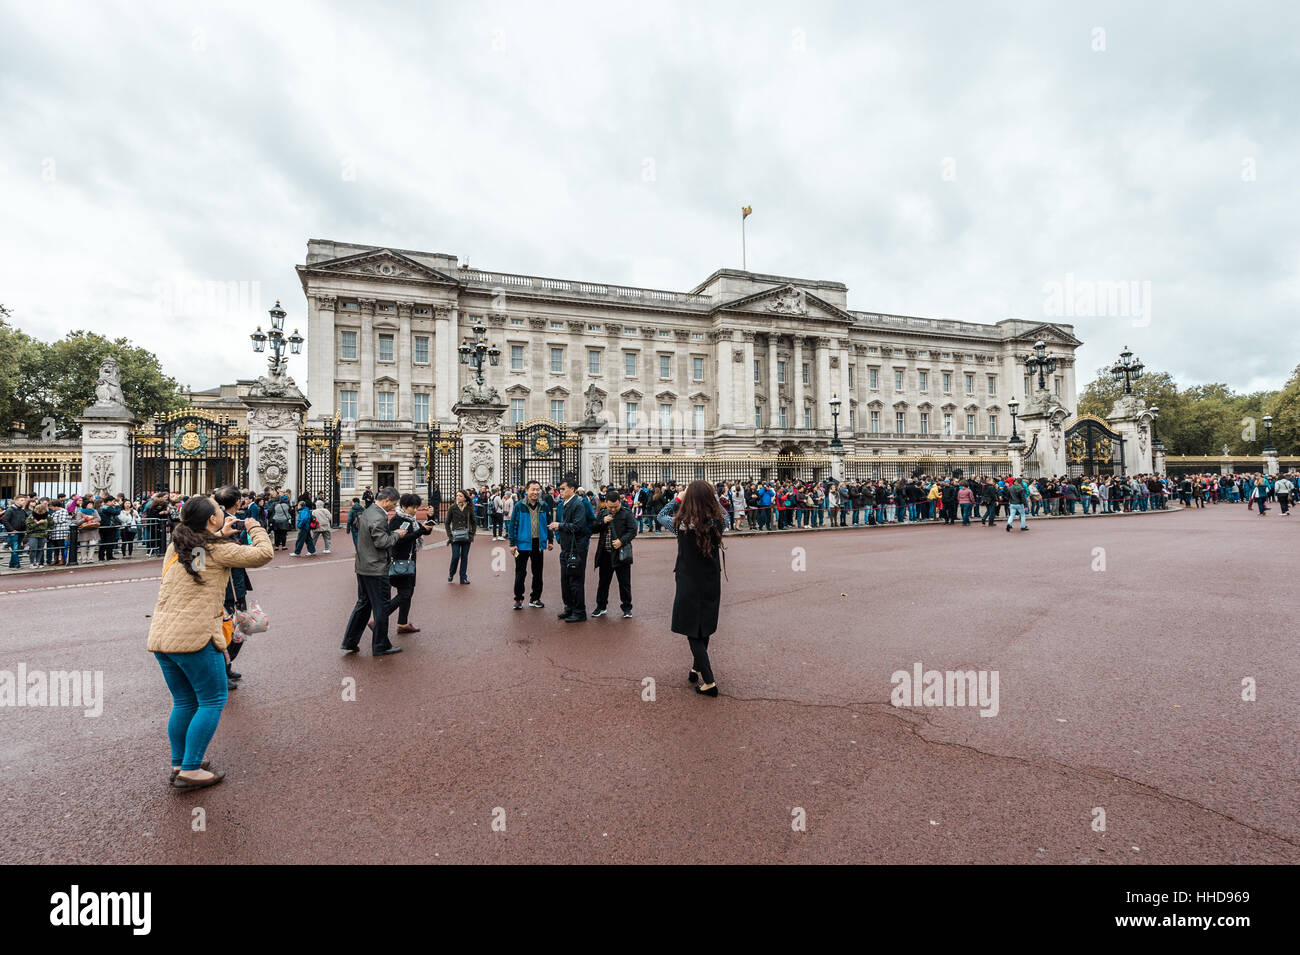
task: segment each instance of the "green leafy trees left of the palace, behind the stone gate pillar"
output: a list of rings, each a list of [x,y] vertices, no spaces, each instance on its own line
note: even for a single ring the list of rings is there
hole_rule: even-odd
[[[42,418],[55,418],[60,434],[79,434],[75,418],[95,403],[100,363],[117,360],[126,407],[144,418],[185,405],[176,379],[162,374],[153,352],[127,339],[108,339],[94,331],[70,331],[57,342],[42,342],[0,321],[0,426],[21,421],[27,434],[42,433]]]

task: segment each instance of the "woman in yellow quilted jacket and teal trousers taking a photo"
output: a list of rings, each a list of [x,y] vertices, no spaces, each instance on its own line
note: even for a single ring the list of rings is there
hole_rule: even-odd
[[[226,706],[226,634],[222,630],[226,582],[233,567],[261,567],[274,556],[270,537],[255,520],[252,539],[239,544],[235,517],[213,498],[194,496],[181,508],[162,560],[159,603],[148,650],[172,691],[166,734],[172,743],[172,786],[203,789],[221,782],[203,759]]]

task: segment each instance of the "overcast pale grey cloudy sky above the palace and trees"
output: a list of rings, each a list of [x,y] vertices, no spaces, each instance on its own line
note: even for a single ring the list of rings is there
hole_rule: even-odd
[[[306,333],[309,238],[688,290],[740,266],[750,204],[750,269],[1072,322],[1080,388],[1124,344],[1279,387],[1297,9],[3,0],[0,303],[202,388],[264,370],[276,298]]]

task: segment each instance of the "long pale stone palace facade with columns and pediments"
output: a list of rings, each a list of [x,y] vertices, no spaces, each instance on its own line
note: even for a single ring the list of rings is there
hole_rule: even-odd
[[[318,239],[298,273],[309,414],[343,422],[344,494],[425,482],[424,442],[458,427],[474,387],[460,355],[474,326],[499,350],[481,386],[499,430],[551,421],[598,439],[598,479],[816,478],[832,451],[849,477],[996,469],[1040,339],[1058,360],[1048,390],[1075,407],[1072,326],[862,312],[841,282],[719,269],[662,291]],[[476,474],[514,479],[491,465]]]

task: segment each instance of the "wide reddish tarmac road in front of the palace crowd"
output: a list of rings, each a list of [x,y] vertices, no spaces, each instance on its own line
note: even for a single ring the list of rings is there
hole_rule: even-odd
[[[208,751],[226,781],[190,794],[144,650],[157,564],[3,581],[0,670],[103,670],[105,702],[0,708],[0,863],[1300,861],[1300,517],[736,538],[719,699],[668,631],[667,539],[637,543],[636,617],[585,624],[555,620],[555,552],[516,613],[500,544],[468,587],[426,550],[424,629],[373,659],[338,650],[334,538],[254,572],[272,629]],[[916,663],[996,670],[997,715],[890,706]]]

